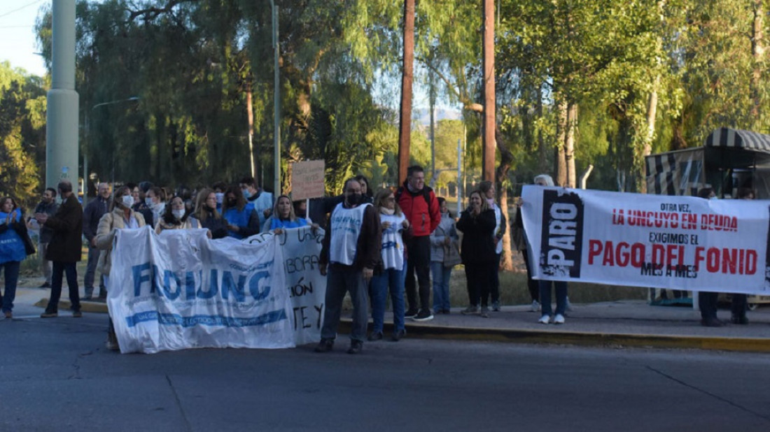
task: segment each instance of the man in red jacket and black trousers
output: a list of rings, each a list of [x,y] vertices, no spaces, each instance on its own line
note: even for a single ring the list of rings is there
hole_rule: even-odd
[[[414,321],[433,319],[430,311],[430,233],[441,221],[438,200],[433,189],[425,185],[425,171],[420,165],[407,169],[407,181],[396,191],[398,205],[413,227],[413,237],[405,241],[407,247],[408,308],[404,317]],[[414,274],[420,285],[420,310],[417,310],[417,292]]]

